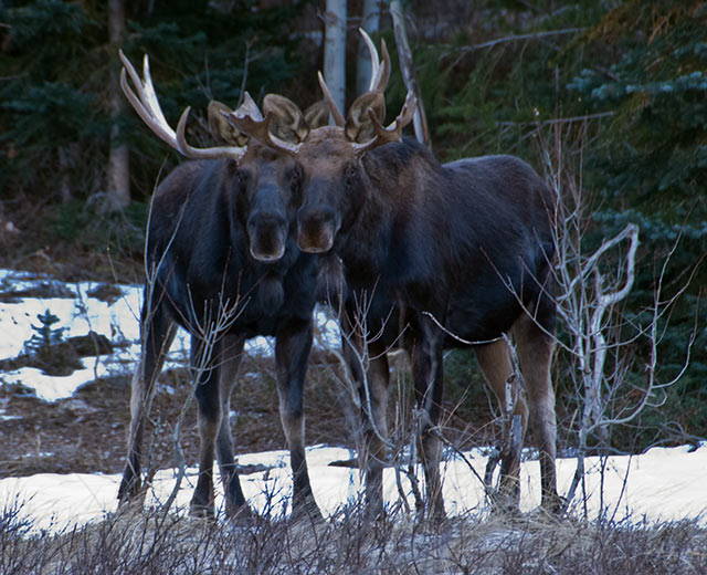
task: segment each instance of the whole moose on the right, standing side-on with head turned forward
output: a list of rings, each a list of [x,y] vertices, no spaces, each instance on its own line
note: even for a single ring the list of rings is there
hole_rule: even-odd
[[[371,50],[370,40],[367,43]],[[387,429],[389,378],[384,352],[402,343],[411,357],[415,400],[423,414],[419,442],[424,512],[444,515],[435,426],[445,347],[473,347],[508,419],[520,421],[520,435],[530,424],[540,452],[542,506],[557,511],[561,500],[550,380],[556,323],[553,197],[519,158],[484,156],[441,165],[424,146],[401,139],[414,112],[410,93],[398,117],[383,126],[390,62],[384,43],[381,51],[382,62],[374,56],[380,63],[370,90],[351,104],[346,117],[319,76],[336,125],[313,129],[306,139],[288,146],[300,174],[300,189],[292,195],[297,245],[307,253],[336,253],[344,264],[345,353],[361,393],[366,385],[371,396],[368,456],[362,462],[369,508],[382,512],[386,447],[380,435]],[[274,108],[272,114],[278,122],[302,122],[302,112],[292,106]],[[267,134],[246,133],[282,149]],[[356,303],[361,301],[368,302],[367,331],[378,334],[372,342],[356,330],[360,325]],[[521,378],[515,375],[509,336],[517,347]],[[357,365],[365,345],[370,363]],[[516,443],[503,453],[496,496],[503,508],[518,505],[519,451]]]

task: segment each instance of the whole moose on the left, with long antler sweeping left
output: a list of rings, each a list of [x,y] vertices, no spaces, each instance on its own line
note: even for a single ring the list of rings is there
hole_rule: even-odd
[[[212,102],[209,125],[225,145],[192,147],[186,138],[190,108],[175,132],[159,106],[147,55],[143,80],[123,52],[120,59],[120,83],[133,107],[157,136],[192,161],[176,168],[152,198],[140,315],[143,349],[131,384],[128,454],[118,499],[125,503],[140,495],[143,436],[155,381],[180,325],[191,334],[200,432],[199,479],[190,512],[214,514],[215,449],[226,513],[247,514],[233,458],[230,397],[244,341],[273,335],[279,414],[293,469],[293,513],[316,515],[304,450],[303,386],[313,339],[318,257],[302,252],[291,233],[295,212],[289,195],[298,168],[286,151],[306,137],[304,116],[299,126],[273,136],[279,146],[274,148],[239,129],[240,123],[255,129],[264,122],[247,94],[236,111]],[[283,109],[278,97],[265,97],[266,115],[274,106]]]

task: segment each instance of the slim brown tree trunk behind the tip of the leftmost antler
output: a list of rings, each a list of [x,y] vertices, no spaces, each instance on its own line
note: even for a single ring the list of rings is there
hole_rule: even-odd
[[[125,39],[124,0],[108,1],[108,40],[113,56]],[[125,97],[120,91],[118,70],[110,71],[110,112],[114,118],[110,129],[110,153],[108,156],[107,197],[105,208],[124,209],[130,203],[130,156],[126,144],[120,144],[120,128],[117,118],[125,109]]]

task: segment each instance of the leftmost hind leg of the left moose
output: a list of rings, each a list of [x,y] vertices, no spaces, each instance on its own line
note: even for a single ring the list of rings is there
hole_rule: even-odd
[[[161,372],[165,356],[177,332],[162,307],[156,307],[151,313],[147,313],[146,310],[147,306],[143,310],[140,323],[143,349],[131,384],[128,454],[118,489],[120,504],[137,500],[141,492],[140,467],[145,425],[155,395],[155,380]]]

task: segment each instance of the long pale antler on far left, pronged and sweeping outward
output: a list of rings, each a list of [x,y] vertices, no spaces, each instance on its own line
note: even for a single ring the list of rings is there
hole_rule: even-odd
[[[172,148],[175,148],[183,156],[187,156],[188,158],[210,159],[232,157],[234,159],[240,159],[241,156],[243,156],[243,154],[245,153],[245,146],[194,148],[189,145],[187,143],[184,133],[187,130],[187,119],[189,117],[191,107],[189,106],[184,109],[181,117],[179,118],[179,123],[177,124],[177,132],[175,132],[165,118],[165,114],[162,114],[159,101],[157,100],[155,86],[152,85],[152,79],[150,77],[150,66],[147,54],[145,54],[145,59],[143,61],[143,80],[140,80],[140,76],[136,72],[130,61],[123,53],[123,50],[119,51],[119,55],[120,61],[125,66],[120,71],[120,87],[123,87],[123,92],[135,108],[135,112],[138,113],[138,115],[143,118],[143,122],[145,122],[145,124],[147,124],[147,126],[157,136],[159,136],[160,139],[169,144]],[[137,90],[137,94],[128,84],[128,74],[130,76],[130,80],[133,81],[135,88]]]

